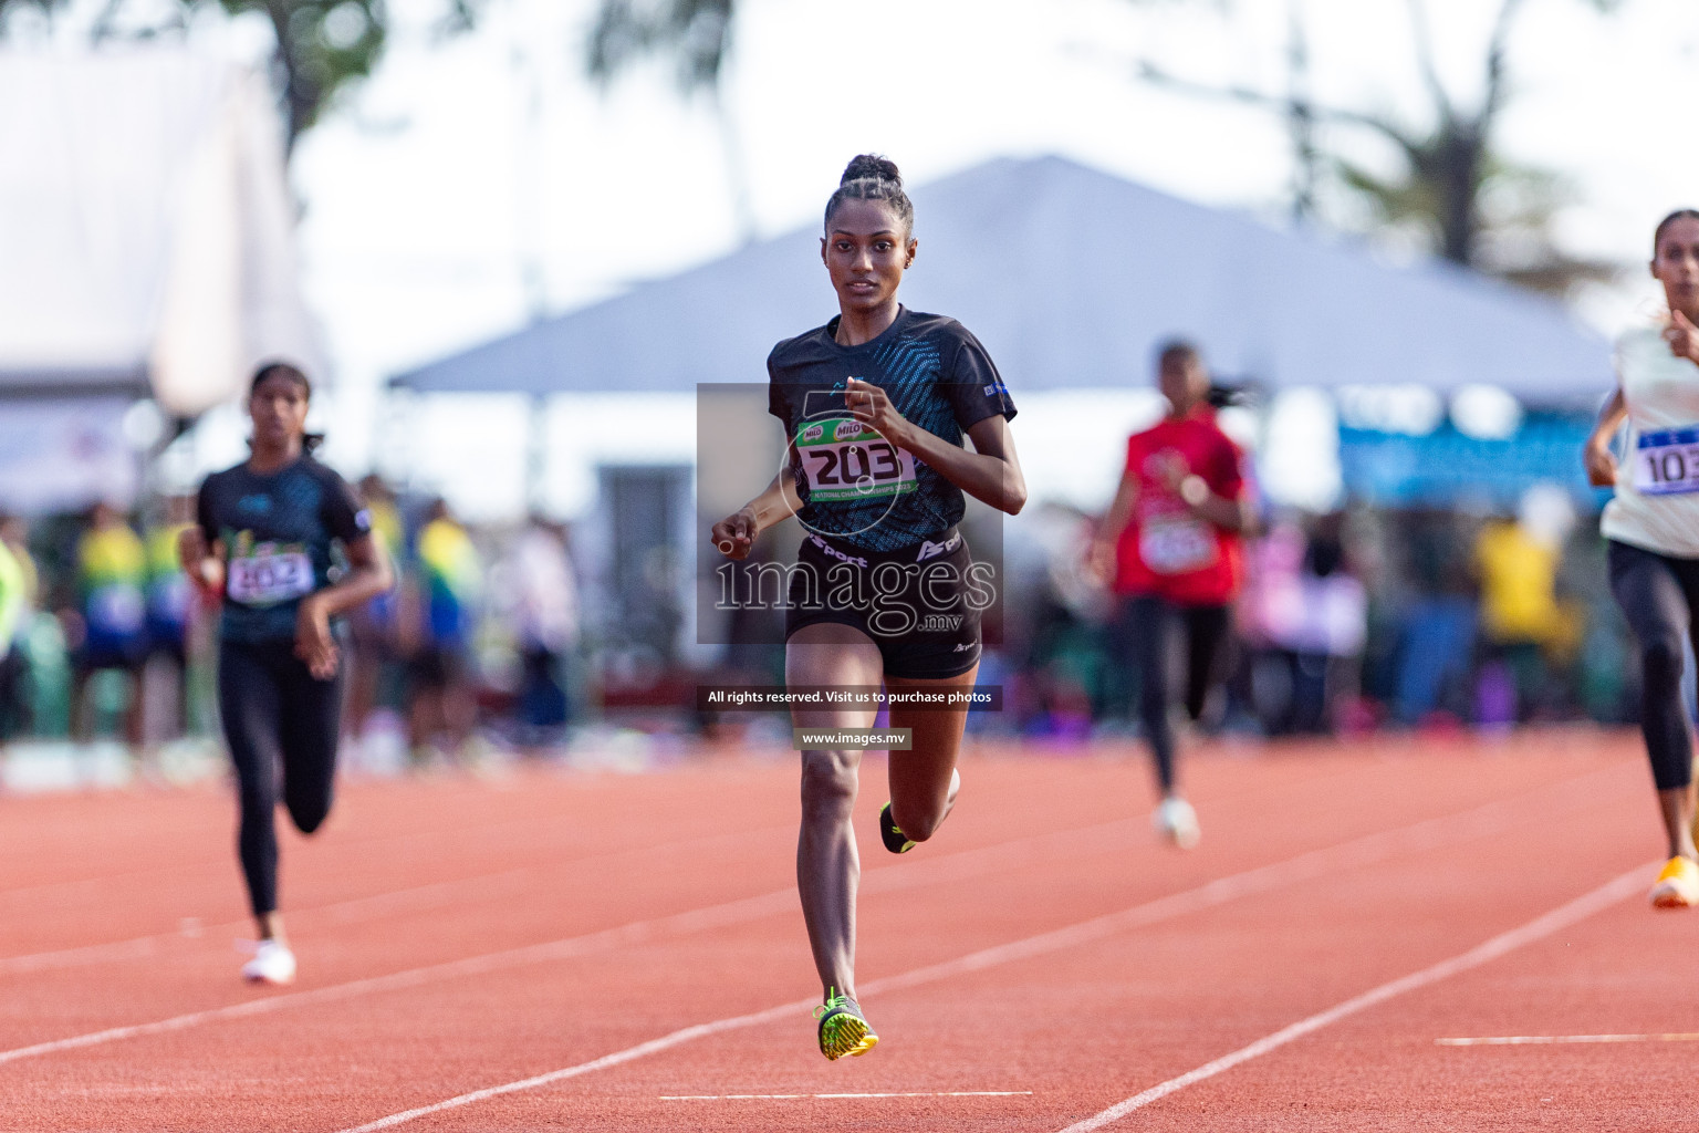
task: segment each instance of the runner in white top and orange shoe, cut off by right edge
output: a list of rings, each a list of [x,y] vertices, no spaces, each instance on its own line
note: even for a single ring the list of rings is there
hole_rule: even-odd
[[[1699,211],[1663,217],[1651,273],[1668,318],[1617,341],[1617,387],[1583,459],[1594,484],[1616,488],[1599,530],[1609,540],[1611,593],[1640,640],[1640,727],[1670,854],[1650,897],[1684,909],[1699,905],[1692,736],[1680,690],[1682,635],[1699,613]],[[1624,421],[1619,462],[1611,442]]]

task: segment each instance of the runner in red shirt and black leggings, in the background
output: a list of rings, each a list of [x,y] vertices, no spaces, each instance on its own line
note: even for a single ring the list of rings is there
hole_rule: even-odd
[[[1138,671],[1138,717],[1155,754],[1155,826],[1176,846],[1198,843],[1198,815],[1174,783],[1174,729],[1164,659],[1169,627],[1186,625],[1186,712],[1196,720],[1227,642],[1250,527],[1244,454],[1215,423],[1210,374],[1196,347],[1162,348],[1157,384],[1169,413],[1126,442],[1126,469],[1092,545],[1120,598],[1116,640]]]

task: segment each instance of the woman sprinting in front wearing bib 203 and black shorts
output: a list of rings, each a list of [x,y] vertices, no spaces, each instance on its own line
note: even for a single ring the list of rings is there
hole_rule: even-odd
[[[955,319],[897,302],[914,262],[914,207],[897,166],[858,156],[826,204],[826,262],[839,314],[773,347],[768,408],[785,425],[788,467],[741,511],[714,525],[714,545],[749,554],[766,528],[797,515],[807,528],[790,574],[788,686],[885,685],[890,727],[912,749],[890,754],[885,848],[933,836],[960,786],[967,705],[902,705],[909,693],[974,688],[989,572],[975,571],[957,523],[962,493],[1008,513],[1026,486],[1008,421],[1014,404],[984,347]],[[962,445],[967,435],[974,448]],[[797,708],[797,727],[870,727],[873,708]],[[878,1041],[855,992],[860,877],[850,819],[861,753],[802,753],[797,888],[824,1004],[821,1053],[861,1055]]]

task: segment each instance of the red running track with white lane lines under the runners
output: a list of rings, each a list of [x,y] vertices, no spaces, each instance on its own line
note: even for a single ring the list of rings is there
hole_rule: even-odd
[[[1189,853],[1132,747],[970,751],[902,860],[882,769],[883,1041],[838,1063],[783,758],[350,783],[284,844],[274,990],[223,790],[0,800],[0,1130],[1694,1126],[1699,914],[1645,905],[1633,736],[1205,749]]]

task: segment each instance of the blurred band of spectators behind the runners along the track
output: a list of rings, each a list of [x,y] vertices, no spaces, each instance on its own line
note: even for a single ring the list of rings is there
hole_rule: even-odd
[[[549,754],[598,727],[671,736],[773,730],[697,710],[698,683],[782,683],[782,647],[666,642],[675,586],[641,581],[663,629],[634,640],[605,615],[632,600],[598,579],[586,608],[571,530],[460,523],[440,498],[360,482],[401,584],[350,618],[348,758],[369,769]],[[1225,695],[1205,725],[1242,737],[1371,729],[1505,729],[1633,719],[1626,627],[1606,589],[1592,515],[1538,482],[1514,510],[1262,506],[1235,608]],[[136,515],[8,516],[0,525],[0,737],[119,739],[146,753],[216,730],[214,610],[177,562],[192,496]],[[1137,674],[1113,596],[1086,569],[1096,516],[1040,504],[1001,532],[1002,640],[982,685],[985,734],[1070,742],[1135,736]],[[642,533],[632,533],[641,538]],[[666,561],[666,532],[647,532]],[[996,540],[989,540],[996,545]],[[671,561],[695,549],[671,549]],[[612,588],[610,588],[612,583]],[[627,579],[629,583],[629,579]],[[600,615],[600,617],[598,617]],[[1176,657],[1176,664],[1179,657]]]

